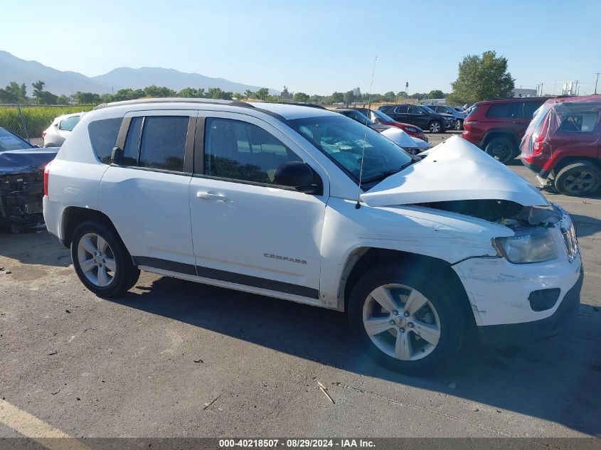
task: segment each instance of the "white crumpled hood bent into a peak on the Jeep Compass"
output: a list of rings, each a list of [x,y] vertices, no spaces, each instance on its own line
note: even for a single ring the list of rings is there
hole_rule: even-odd
[[[474,144],[452,136],[424,151],[422,161],[385,178],[361,195],[368,206],[451,200],[508,200],[547,206],[545,196]]]

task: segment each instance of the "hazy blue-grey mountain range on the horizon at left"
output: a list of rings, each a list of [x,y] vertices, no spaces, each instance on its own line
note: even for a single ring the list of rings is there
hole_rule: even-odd
[[[165,86],[175,91],[182,90],[184,87],[205,89],[219,87],[230,92],[245,90],[255,92],[261,87],[245,85],[225,78],[212,78],[199,73],[184,73],[164,68],[117,68],[104,75],[86,77],[77,72],[56,70],[37,61],[22,60],[0,50],[0,87],[8,85],[11,81],[16,81],[19,85],[24,82],[28,93],[31,93],[33,90],[31,83],[38,80],[46,83],[44,90],[56,95],[71,95],[77,91],[107,94],[127,87],[139,89],[149,85]],[[277,95],[280,92],[270,89],[270,93]]]

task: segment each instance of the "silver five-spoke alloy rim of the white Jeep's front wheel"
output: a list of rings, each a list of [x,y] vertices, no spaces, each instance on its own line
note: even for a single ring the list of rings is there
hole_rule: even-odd
[[[440,318],[417,289],[385,284],[371,291],[363,304],[363,326],[372,343],[398,360],[430,355],[440,341]]]

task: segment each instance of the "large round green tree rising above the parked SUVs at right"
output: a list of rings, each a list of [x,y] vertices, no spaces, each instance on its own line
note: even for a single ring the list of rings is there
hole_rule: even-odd
[[[450,102],[475,103],[490,97],[509,97],[514,82],[507,71],[507,58],[497,57],[491,50],[482,56],[468,55],[459,63],[457,80],[451,83]]]

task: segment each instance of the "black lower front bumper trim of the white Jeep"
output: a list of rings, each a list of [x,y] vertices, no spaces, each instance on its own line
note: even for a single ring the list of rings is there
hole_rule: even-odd
[[[538,341],[560,333],[573,320],[580,305],[580,290],[583,287],[584,272],[580,268],[580,277],[563,296],[555,312],[538,321],[509,323],[504,325],[479,326],[478,334],[483,343],[509,344],[526,341]]]

